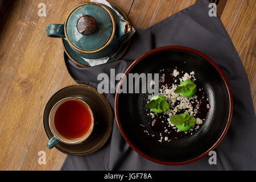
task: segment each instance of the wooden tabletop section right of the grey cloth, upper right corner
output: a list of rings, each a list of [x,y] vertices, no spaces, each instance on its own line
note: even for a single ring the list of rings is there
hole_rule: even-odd
[[[228,1],[221,16],[251,86],[251,94],[256,92],[255,81],[255,8],[256,1]],[[253,79],[254,78],[254,79]]]

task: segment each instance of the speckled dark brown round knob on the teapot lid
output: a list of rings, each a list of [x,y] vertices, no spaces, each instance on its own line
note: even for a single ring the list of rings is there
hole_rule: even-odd
[[[76,23],[77,30],[82,35],[91,35],[96,30],[96,21],[93,16],[83,15]]]

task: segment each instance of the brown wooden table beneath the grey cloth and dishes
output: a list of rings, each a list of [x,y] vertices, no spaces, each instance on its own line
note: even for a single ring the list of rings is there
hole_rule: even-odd
[[[147,28],[193,5],[195,0],[110,0],[135,28]],[[59,170],[66,157],[48,150],[42,113],[48,99],[75,81],[63,61],[60,40],[47,38],[49,23],[64,22],[80,0],[0,0],[0,169]],[[39,3],[46,17],[38,16]],[[221,21],[241,57],[256,103],[254,0],[228,0]],[[38,152],[46,152],[46,165]]]

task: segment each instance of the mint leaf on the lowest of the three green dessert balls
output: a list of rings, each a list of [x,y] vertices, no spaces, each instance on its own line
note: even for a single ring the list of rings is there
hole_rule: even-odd
[[[196,118],[191,117],[189,114],[179,114],[173,115],[170,118],[172,125],[181,125],[184,123],[184,126],[194,126],[196,124]]]

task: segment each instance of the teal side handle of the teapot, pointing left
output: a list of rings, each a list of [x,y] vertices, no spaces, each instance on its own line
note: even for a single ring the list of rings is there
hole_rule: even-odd
[[[48,24],[46,35],[50,38],[65,38],[64,24]]]

